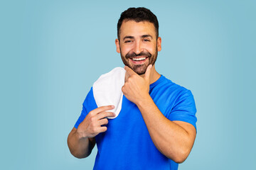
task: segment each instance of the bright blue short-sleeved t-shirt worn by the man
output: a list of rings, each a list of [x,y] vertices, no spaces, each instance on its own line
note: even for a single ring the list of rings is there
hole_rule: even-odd
[[[181,120],[196,128],[196,105],[191,91],[163,75],[149,86],[149,94],[169,120]],[[92,88],[82,104],[75,128],[97,108]],[[109,119],[107,131],[95,136],[97,157],[93,169],[178,169],[178,164],[156,149],[139,108],[123,96],[122,110]]]

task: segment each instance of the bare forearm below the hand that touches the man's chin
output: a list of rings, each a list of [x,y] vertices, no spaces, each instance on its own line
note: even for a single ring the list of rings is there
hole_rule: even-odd
[[[156,148],[175,162],[185,161],[193,146],[193,137],[180,125],[164,117],[150,96],[137,106]]]

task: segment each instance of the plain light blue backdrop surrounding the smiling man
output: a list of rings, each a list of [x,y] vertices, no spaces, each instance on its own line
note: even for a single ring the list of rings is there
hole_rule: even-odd
[[[123,66],[114,39],[130,6],[156,14],[156,69],[196,99],[179,169],[256,169],[256,3],[213,0],[1,1],[0,169],[92,169],[97,149],[76,159],[66,140],[92,83]]]

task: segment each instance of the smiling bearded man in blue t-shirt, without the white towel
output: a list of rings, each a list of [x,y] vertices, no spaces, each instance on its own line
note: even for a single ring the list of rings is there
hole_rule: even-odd
[[[122,110],[97,108],[93,91],[68,136],[70,152],[90,155],[97,143],[94,169],[178,169],[196,138],[196,106],[191,91],[156,72],[161,50],[159,23],[146,8],[128,8],[117,23],[117,52],[124,62]]]

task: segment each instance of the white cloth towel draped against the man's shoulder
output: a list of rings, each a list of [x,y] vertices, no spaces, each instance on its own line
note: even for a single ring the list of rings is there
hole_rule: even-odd
[[[97,107],[114,105],[114,117],[117,118],[122,108],[122,86],[124,86],[125,69],[116,67],[112,71],[102,74],[97,81],[92,85],[93,96]]]

